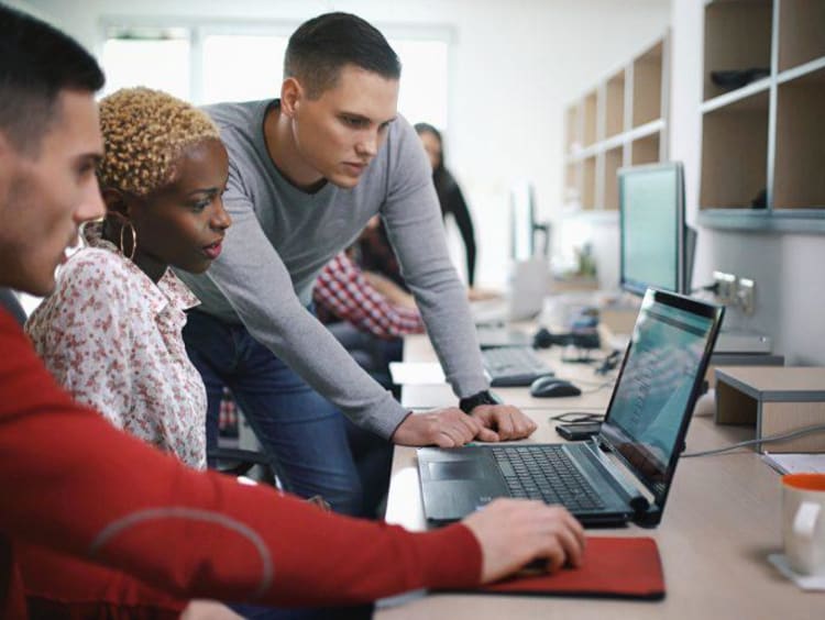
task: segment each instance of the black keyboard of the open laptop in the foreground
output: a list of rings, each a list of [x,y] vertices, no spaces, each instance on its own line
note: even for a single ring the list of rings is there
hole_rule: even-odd
[[[491,447],[510,496],[562,503],[571,511],[604,507],[561,445]]]

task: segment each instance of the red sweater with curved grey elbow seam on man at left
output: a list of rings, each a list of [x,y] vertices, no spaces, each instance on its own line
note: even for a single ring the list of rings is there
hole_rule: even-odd
[[[0,311],[0,617],[21,618],[10,547],[118,567],[179,598],[351,605],[479,583],[464,525],[410,533],[197,473],[75,403]],[[136,590],[135,590],[136,591]]]

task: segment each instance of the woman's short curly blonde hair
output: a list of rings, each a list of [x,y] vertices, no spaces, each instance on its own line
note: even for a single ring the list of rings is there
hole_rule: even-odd
[[[98,179],[145,197],[169,184],[183,152],[220,133],[206,112],[160,90],[123,88],[100,101],[103,159]]]

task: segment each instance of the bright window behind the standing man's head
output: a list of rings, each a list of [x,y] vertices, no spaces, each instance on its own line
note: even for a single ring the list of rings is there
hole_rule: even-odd
[[[284,52],[296,24],[105,26],[105,95],[147,86],[196,104],[278,96]],[[398,110],[411,123],[448,125],[450,33],[388,37],[404,67]]]

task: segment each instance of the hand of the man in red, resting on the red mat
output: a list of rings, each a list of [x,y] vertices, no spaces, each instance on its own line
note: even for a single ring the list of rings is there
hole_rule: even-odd
[[[584,529],[561,506],[524,499],[496,499],[463,520],[482,549],[482,583],[515,573],[534,560],[547,571],[580,566]]]

